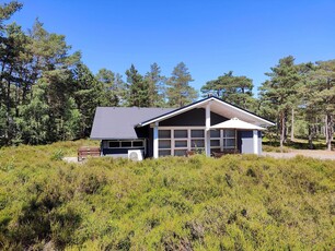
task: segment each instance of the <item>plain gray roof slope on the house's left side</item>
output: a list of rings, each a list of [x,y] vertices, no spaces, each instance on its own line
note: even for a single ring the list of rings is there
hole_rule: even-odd
[[[97,107],[92,140],[137,139],[135,125],[175,108]]]

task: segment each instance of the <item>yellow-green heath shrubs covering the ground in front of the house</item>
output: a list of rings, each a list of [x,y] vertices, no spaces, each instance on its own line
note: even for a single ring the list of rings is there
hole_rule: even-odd
[[[335,247],[335,162],[253,155],[58,160],[76,156],[82,144],[96,142],[0,150],[0,250]]]

